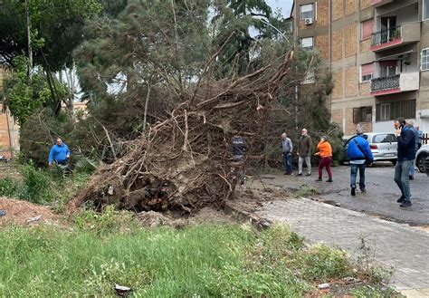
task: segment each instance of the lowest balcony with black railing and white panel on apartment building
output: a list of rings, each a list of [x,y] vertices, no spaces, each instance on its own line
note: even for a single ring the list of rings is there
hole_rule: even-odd
[[[371,95],[415,91],[419,89],[419,79],[420,72],[402,72],[385,78],[375,78],[371,80]]]

